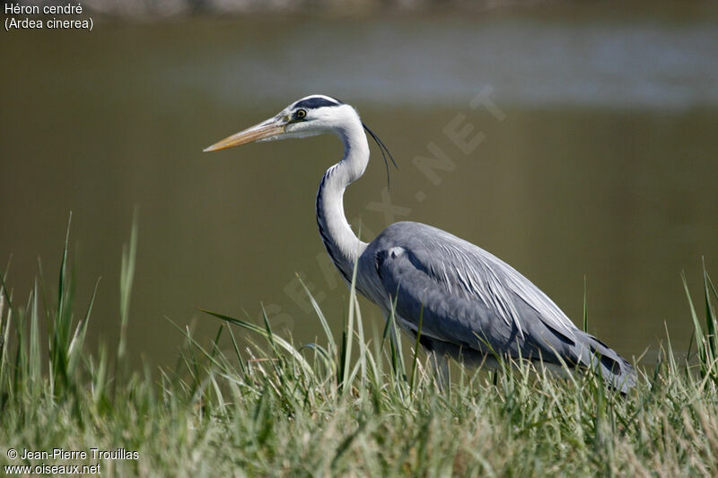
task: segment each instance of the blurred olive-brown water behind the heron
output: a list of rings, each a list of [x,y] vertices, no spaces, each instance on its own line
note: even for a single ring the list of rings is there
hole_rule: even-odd
[[[120,254],[137,209],[136,363],[175,361],[180,334],[164,317],[214,336],[197,307],[258,317],[263,303],[310,342],[320,326],[296,274],[338,326],[348,291],[314,196],[341,144],[201,152],[320,92],[355,105],[399,164],[386,196],[373,150],[346,195],[363,237],[398,220],[449,230],[514,265],[577,324],[587,277],[591,332],[618,352],[651,356],[666,328],[687,350],[679,274],[699,294],[705,256],[718,278],[711,4],[88,4],[92,32],[0,35],[0,259],[12,255],[16,302],[38,256],[51,292],[72,211],[80,303],[102,277],[92,340],[118,340]],[[472,109],[477,94],[491,107]],[[444,132],[452,121],[484,140],[460,151]],[[416,167],[430,144],[451,170]]]

